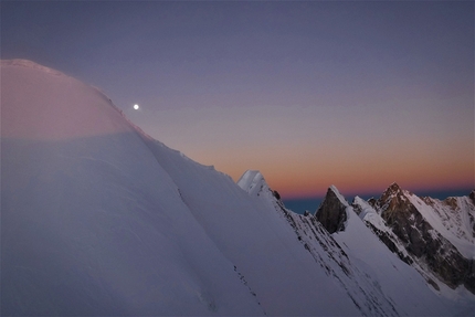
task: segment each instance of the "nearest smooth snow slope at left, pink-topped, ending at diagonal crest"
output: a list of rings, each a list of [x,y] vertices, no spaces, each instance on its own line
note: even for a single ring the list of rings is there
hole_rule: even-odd
[[[22,61],[1,76],[1,315],[264,313],[107,97]]]

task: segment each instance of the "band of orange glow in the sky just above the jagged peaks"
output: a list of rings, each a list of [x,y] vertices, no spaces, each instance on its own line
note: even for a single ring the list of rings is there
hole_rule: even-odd
[[[225,154],[199,151],[193,159],[214,165],[217,170],[230,175],[234,181],[247,169],[260,170],[270,187],[283,198],[313,198],[325,196],[334,184],[347,196],[382,193],[392,182],[410,191],[450,190],[474,187],[474,168],[469,151],[454,157],[448,151],[418,151],[416,141],[394,146],[394,152],[368,150],[353,156],[347,147],[307,148],[305,154],[295,149],[230,149]],[[457,149],[461,152],[461,149]],[[277,156],[275,154],[278,154]],[[437,160],[432,159],[437,157]],[[350,197],[348,197],[349,199]]]

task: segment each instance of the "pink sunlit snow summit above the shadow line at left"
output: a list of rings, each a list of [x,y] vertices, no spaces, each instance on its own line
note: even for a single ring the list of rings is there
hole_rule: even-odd
[[[3,138],[71,140],[134,131],[98,89],[33,62],[1,62]],[[8,119],[6,119],[8,118]]]

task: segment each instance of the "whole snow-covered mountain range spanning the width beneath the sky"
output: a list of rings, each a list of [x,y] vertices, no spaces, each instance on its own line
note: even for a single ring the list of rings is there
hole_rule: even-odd
[[[428,223],[467,258],[473,198],[411,199],[437,205]],[[452,290],[414,261],[384,201],[331,187],[325,215],[296,214],[258,171],[234,183],[98,89],[1,62],[2,316],[469,315],[469,279]]]

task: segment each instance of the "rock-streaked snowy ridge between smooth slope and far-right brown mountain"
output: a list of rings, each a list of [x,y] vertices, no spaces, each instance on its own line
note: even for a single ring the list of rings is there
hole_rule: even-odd
[[[421,310],[418,313],[412,310],[410,315],[465,316],[471,314],[467,311],[474,309],[475,297],[469,294],[469,288],[447,285],[425,263],[414,258],[369,202],[357,197],[350,204],[338,189],[331,186],[315,214],[296,214],[285,209],[273,196],[261,173],[257,171],[246,173],[253,173],[260,179],[260,190],[254,191],[254,194],[272,202],[281,219],[294,229],[304,249],[321,268],[341,283],[363,315],[392,316],[393,313],[401,315],[404,308],[411,306],[409,304],[411,302],[413,307],[419,306]],[[241,180],[239,183],[242,183]],[[394,187],[397,186],[391,186],[389,190]],[[329,214],[327,219],[323,218],[324,221],[318,219],[321,210]],[[330,230],[336,228],[339,230],[330,233],[327,226]],[[355,264],[359,261],[363,261],[365,265]],[[382,267],[386,268],[381,271]],[[439,285],[434,281],[437,281]],[[429,313],[431,308],[421,300],[424,296],[421,283],[425,284],[424,290],[431,288],[441,296],[441,302],[450,298],[465,308],[461,308],[458,313],[444,310]],[[351,284],[352,286],[348,287]],[[395,298],[398,299],[394,300]],[[405,303],[405,307],[400,307],[398,303]]]

